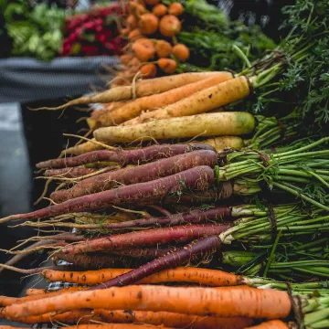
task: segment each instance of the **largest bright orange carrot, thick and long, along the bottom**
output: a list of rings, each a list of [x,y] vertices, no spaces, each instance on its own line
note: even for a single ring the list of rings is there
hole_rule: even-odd
[[[6,318],[16,320],[31,315],[83,308],[278,319],[291,313],[292,302],[287,292],[270,289],[132,285],[13,304],[5,307],[3,313]]]

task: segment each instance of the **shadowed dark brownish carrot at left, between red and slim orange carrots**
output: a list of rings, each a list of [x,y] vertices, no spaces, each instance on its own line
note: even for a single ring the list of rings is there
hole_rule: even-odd
[[[74,255],[70,256],[63,252],[58,252],[53,261],[65,260],[76,267],[83,269],[103,269],[109,266],[132,266],[130,258],[118,255]]]

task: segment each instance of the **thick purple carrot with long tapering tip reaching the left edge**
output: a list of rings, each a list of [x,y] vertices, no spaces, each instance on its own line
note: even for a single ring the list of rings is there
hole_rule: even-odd
[[[80,196],[27,214],[12,215],[0,219],[0,223],[16,219],[42,219],[72,212],[96,211],[140,202],[152,205],[154,201],[171,193],[183,193],[186,189],[207,190],[214,183],[214,170],[207,165],[200,165],[151,182],[122,186],[93,195]]]

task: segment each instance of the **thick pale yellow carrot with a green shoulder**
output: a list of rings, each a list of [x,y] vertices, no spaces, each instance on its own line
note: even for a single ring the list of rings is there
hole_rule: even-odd
[[[97,141],[132,143],[151,139],[226,136],[251,133],[255,119],[248,112],[219,112],[155,120],[133,126],[104,127],[94,131]]]

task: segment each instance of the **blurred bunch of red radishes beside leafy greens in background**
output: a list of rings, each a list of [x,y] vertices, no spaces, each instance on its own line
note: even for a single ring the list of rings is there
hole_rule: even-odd
[[[115,3],[67,17],[61,55],[120,55],[124,40],[119,34],[119,25],[124,13],[125,8]]]

